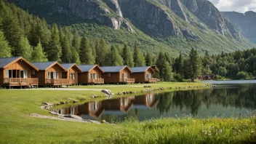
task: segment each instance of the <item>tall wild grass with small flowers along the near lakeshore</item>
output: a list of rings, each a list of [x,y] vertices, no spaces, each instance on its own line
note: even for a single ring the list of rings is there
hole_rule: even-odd
[[[95,143],[256,143],[256,119],[158,119],[121,123]]]

